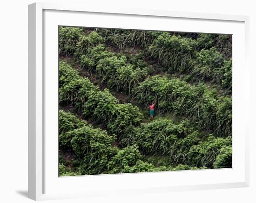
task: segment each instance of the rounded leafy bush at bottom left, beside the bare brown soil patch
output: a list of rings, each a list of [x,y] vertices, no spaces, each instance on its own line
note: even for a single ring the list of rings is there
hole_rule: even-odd
[[[82,160],[80,172],[82,174],[101,174],[107,170],[109,159],[117,149],[112,147],[115,136],[92,126],[77,128],[70,133],[75,154]]]

